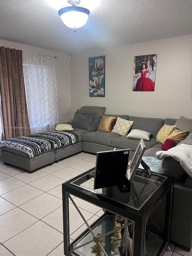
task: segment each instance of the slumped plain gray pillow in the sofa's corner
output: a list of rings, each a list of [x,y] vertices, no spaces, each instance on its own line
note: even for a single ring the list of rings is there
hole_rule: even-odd
[[[71,125],[73,128],[86,129],[90,132],[96,130],[93,115],[89,112],[79,111],[77,118],[71,121]]]

